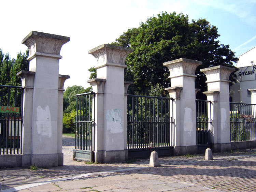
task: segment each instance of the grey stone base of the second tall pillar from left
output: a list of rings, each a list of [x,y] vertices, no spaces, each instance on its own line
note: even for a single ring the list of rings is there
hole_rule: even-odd
[[[94,157],[98,163],[124,162],[128,159],[128,150],[94,151]]]

